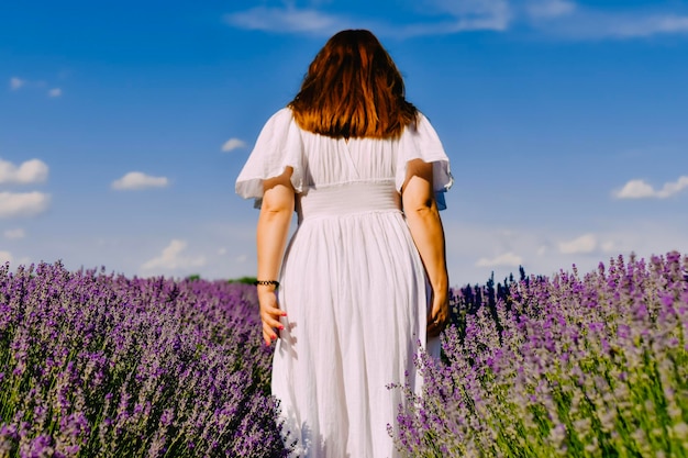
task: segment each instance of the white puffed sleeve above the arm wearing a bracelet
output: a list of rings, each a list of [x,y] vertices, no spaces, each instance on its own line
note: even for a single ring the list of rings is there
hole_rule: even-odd
[[[263,180],[278,177],[286,167],[293,168],[291,186],[303,190],[303,144],[299,126],[288,108],[275,113],[263,126],[256,144],[236,178],[236,193],[244,199],[263,200]]]

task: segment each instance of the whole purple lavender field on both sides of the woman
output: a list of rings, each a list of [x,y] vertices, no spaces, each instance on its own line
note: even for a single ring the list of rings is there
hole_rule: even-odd
[[[390,387],[404,456],[688,457],[688,256],[492,287]],[[0,457],[286,456],[257,322],[245,284],[0,266]]]

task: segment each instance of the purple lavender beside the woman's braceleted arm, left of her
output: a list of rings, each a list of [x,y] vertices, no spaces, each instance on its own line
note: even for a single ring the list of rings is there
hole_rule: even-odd
[[[245,284],[0,266],[0,457],[285,456]]]

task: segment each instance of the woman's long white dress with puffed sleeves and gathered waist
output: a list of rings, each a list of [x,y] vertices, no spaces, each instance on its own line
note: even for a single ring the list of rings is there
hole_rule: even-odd
[[[295,456],[398,455],[387,425],[396,427],[404,398],[387,387],[408,382],[420,393],[413,357],[425,344],[429,306],[399,194],[417,158],[433,163],[435,191],[450,188],[447,156],[423,115],[397,139],[345,141],[301,130],[282,109],[237,178],[236,192],[259,204],[263,180],[293,168],[299,225],[279,277],[287,317],[271,388]]]

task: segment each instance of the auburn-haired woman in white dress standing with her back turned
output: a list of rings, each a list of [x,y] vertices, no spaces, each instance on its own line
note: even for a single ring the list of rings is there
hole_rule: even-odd
[[[386,387],[420,391],[419,342],[448,320],[435,192],[451,185],[435,131],[368,31],[330,38],[260,132],[236,192],[262,199],[263,337],[277,340],[273,394],[297,456],[397,455],[387,425],[404,400]]]

